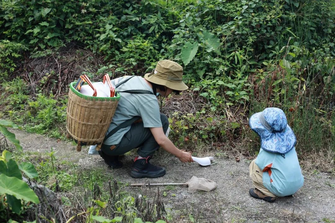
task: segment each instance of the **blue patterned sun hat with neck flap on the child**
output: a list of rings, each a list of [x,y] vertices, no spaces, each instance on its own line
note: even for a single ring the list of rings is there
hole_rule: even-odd
[[[253,114],[249,119],[250,128],[261,138],[261,148],[280,154],[285,154],[294,148],[296,138],[288,126],[283,110],[266,108]]]

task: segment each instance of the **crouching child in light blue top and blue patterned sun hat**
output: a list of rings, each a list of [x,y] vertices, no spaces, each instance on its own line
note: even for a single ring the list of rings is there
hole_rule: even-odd
[[[249,125],[261,139],[261,149],[249,167],[255,186],[249,194],[267,202],[292,197],[303,186],[304,177],[295,152],[296,138],[284,112],[266,108],[252,115]]]

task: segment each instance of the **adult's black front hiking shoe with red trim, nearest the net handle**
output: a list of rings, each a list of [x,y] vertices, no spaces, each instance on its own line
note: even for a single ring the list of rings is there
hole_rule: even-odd
[[[145,158],[136,157],[134,160],[133,168],[131,169],[130,176],[133,178],[157,178],[165,175],[165,169],[159,166],[152,165],[149,160],[152,156]]]

